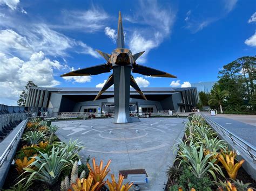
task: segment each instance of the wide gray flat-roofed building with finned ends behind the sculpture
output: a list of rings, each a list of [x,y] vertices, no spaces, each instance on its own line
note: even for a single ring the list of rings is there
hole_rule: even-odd
[[[93,101],[100,88],[30,88],[26,107],[52,108],[55,112],[113,112],[114,89]],[[130,111],[188,112],[198,103],[196,88],[142,88],[147,101],[130,90]]]

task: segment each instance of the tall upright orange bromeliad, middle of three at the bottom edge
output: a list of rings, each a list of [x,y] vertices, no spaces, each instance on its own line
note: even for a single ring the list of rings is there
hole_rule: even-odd
[[[107,173],[110,172],[110,169],[107,169],[109,168],[109,165],[110,165],[110,162],[111,160],[109,160],[106,164],[106,166],[103,168],[103,161],[100,160],[100,164],[99,166],[96,165],[95,163],[95,158],[92,159],[92,167],[90,166],[89,163],[87,163],[87,167],[89,168],[90,170],[90,175],[91,177],[93,178],[93,183],[96,184],[97,182],[99,182],[99,186],[97,187],[97,191],[100,190],[103,185],[106,183],[106,181],[104,181]]]

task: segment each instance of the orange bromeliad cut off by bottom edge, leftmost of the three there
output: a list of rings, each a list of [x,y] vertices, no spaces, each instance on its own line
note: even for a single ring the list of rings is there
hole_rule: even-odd
[[[74,191],[95,191],[97,190],[99,186],[99,182],[96,182],[94,185],[92,185],[93,178],[91,175],[88,176],[87,179],[79,179],[77,178],[76,183],[72,183],[72,190]],[[71,191],[71,189],[68,189],[68,191]]]

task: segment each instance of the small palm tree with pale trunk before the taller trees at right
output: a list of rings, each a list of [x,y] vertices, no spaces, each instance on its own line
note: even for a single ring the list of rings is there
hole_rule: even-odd
[[[208,104],[214,104],[219,106],[220,108],[220,113],[223,114],[223,109],[222,105],[224,102],[224,99],[228,96],[228,91],[227,90],[221,90],[219,84],[216,84],[213,86],[213,89],[211,91],[211,97],[210,100],[208,101]]]

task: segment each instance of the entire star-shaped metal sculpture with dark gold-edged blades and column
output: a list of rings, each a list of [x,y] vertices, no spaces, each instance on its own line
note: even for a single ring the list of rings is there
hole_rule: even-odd
[[[114,121],[113,123],[130,123],[132,118],[129,112],[129,100],[130,100],[130,86],[133,87],[142,97],[146,99],[146,96],[140,90],[138,84],[134,80],[132,73],[138,73],[147,76],[156,77],[176,77],[169,73],[153,69],[150,67],[138,65],[136,60],[145,51],[132,54],[130,49],[125,48],[124,45],[124,31],[122,24],[121,12],[119,11],[118,18],[118,30],[117,30],[117,48],[112,51],[111,54],[104,53],[96,50],[107,63],[101,65],[92,66],[88,68],[78,69],[70,73],[63,74],[61,76],[89,76],[102,73],[111,72],[109,79],[105,82],[103,88],[99,91],[95,100],[104,93],[109,87],[114,84]]]

